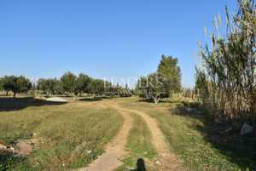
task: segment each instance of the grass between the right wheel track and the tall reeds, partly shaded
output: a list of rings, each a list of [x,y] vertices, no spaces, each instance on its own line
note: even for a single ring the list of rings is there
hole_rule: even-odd
[[[166,102],[153,105],[131,99],[121,103],[154,117],[170,149],[188,170],[256,170],[255,138],[241,137],[238,133],[221,135],[207,113],[177,115],[172,112],[176,105]]]

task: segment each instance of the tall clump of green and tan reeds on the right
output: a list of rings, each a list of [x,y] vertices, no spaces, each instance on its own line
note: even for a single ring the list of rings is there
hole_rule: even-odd
[[[238,0],[236,14],[226,8],[225,26],[214,20],[212,44],[200,47],[195,88],[216,118],[252,121],[256,117],[256,3]],[[224,28],[224,29],[223,29]]]

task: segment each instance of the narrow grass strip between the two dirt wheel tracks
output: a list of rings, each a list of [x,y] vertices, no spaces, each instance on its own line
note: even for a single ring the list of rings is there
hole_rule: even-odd
[[[151,143],[152,135],[148,129],[147,123],[145,123],[143,117],[135,114],[133,115],[133,119],[134,123],[126,144],[126,150],[129,151],[130,154],[123,160],[125,165],[118,168],[117,171],[129,170],[129,168],[135,168],[136,170],[139,159],[143,159],[145,162],[153,159],[157,155]]]

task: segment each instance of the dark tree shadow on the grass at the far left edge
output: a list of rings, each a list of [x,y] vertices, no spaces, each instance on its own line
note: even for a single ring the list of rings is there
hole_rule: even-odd
[[[34,99],[34,97],[1,97],[0,98],[0,111],[17,111],[30,106],[43,106],[43,105],[63,105],[66,102],[52,102],[46,100]]]

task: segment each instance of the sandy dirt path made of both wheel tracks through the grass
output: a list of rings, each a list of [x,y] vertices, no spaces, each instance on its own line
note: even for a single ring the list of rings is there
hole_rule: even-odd
[[[166,138],[162,134],[158,124],[154,118],[149,117],[148,114],[143,111],[137,111],[134,109],[128,109],[121,107],[117,103],[98,103],[98,107],[112,107],[118,110],[124,117],[123,127],[119,130],[119,134],[111,141],[102,156],[98,157],[96,161],[92,162],[86,168],[77,169],[77,171],[113,171],[119,168],[123,164],[120,161],[122,157],[125,157],[125,144],[129,131],[132,127],[131,113],[137,114],[143,117],[144,121],[148,124],[148,128],[152,134],[152,143],[155,150],[158,152],[158,157],[154,161],[154,169],[156,171],[181,171],[180,162],[175,155],[169,150],[169,145],[166,143]]]

